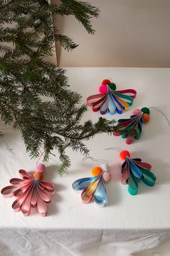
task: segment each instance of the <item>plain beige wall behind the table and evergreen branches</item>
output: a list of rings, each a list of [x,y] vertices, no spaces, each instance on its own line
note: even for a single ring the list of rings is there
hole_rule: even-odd
[[[54,0],[58,1],[58,0]],[[73,17],[58,17],[61,33],[79,47],[57,45],[61,67],[170,67],[170,0],[89,0],[101,14],[89,35]]]

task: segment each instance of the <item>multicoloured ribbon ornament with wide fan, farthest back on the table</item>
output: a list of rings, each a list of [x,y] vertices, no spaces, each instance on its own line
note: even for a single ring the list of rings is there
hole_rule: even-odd
[[[129,106],[133,105],[136,91],[133,89],[116,90],[116,85],[110,80],[103,80],[99,87],[99,94],[91,95],[86,99],[87,106],[92,107],[92,111],[100,111],[100,114],[114,115],[117,111],[122,114],[128,111]]]

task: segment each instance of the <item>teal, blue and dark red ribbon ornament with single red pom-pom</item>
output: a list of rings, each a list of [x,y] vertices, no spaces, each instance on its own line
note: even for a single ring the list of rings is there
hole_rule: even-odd
[[[150,187],[155,185],[156,176],[151,172],[151,164],[142,162],[140,158],[130,158],[127,150],[120,152],[120,158],[125,160],[122,164],[122,184],[128,184],[130,195],[137,194],[140,181]]]

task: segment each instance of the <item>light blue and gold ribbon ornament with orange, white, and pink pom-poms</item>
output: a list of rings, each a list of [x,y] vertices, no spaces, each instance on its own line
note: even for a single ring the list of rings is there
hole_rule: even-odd
[[[107,191],[104,183],[109,182],[111,175],[108,171],[108,166],[102,164],[92,170],[92,177],[77,179],[73,182],[74,190],[83,190],[81,193],[81,200],[84,203],[89,203],[94,200],[94,203],[100,207],[107,204]]]

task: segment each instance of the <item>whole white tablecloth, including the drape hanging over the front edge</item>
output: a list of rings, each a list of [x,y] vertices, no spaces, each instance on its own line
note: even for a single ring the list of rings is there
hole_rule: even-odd
[[[135,108],[153,106],[170,119],[170,69],[68,68],[67,75],[71,88],[83,95],[82,103],[88,95],[97,93],[104,78],[112,77],[117,90],[138,90],[133,106],[122,116],[130,116]],[[84,119],[95,121],[99,116],[89,108]],[[120,115],[105,117],[118,119]],[[19,133],[3,124],[0,130],[5,133],[0,140],[2,188],[9,184],[9,179],[19,176],[19,168],[33,171],[36,160],[30,160],[25,153]],[[0,255],[126,256],[143,249],[151,249],[153,253],[153,247],[170,239],[170,136],[164,115],[151,108],[151,121],[144,125],[143,137],[132,145],[126,145],[121,137],[104,134],[86,144],[91,157],[109,163],[112,181],[107,184],[108,205],[105,208],[97,208],[94,203],[84,205],[80,194],[71,187],[76,179],[91,176],[91,168],[99,163],[90,159],[82,162],[80,153],[68,150],[72,165],[61,178],[57,176],[58,157],[50,157],[45,180],[55,184],[57,193],[48,205],[47,217],[14,213],[11,208],[14,199],[1,197]],[[120,183],[120,150],[129,150],[133,157],[151,163],[157,176],[155,187],[140,184],[138,195],[128,194],[127,186]],[[155,252],[159,255],[157,248]]]

